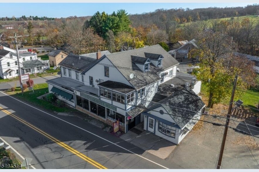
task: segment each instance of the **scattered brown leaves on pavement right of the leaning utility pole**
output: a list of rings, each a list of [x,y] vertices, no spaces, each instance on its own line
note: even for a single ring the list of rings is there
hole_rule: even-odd
[[[246,145],[250,149],[259,150],[259,145],[251,136],[238,136],[236,140],[232,142],[233,145]]]

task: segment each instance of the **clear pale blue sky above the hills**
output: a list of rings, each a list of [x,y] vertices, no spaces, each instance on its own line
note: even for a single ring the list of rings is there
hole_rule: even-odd
[[[50,0],[45,0],[50,1]],[[102,3],[97,0],[95,2],[100,3],[72,3],[72,1],[63,0],[63,2],[70,3],[32,3],[30,1],[24,1],[28,3],[0,3],[1,13],[0,17],[21,17],[21,16],[38,16],[38,17],[53,17],[53,18],[66,18],[69,16],[92,16],[97,11],[105,11],[105,13],[111,14],[113,11],[124,9],[128,14],[142,14],[153,12],[156,9],[172,9],[172,8],[207,8],[207,7],[237,7],[247,6],[255,4],[256,2],[240,3],[228,2],[228,3]],[[219,0],[220,1],[220,0]],[[222,1],[222,0],[221,0]],[[12,2],[12,0],[11,0]],[[35,1],[34,1],[35,2]],[[53,0],[53,2],[57,2]],[[74,2],[78,2],[75,0]],[[80,2],[80,1],[79,1]],[[82,1],[81,1],[82,2]],[[88,1],[89,2],[89,1]],[[128,2],[128,1],[126,1]],[[133,2],[137,2],[136,0]],[[140,0],[139,2],[143,2]],[[149,2],[153,2],[152,0]],[[161,2],[164,2],[162,0]],[[168,2],[168,1],[167,1]],[[183,1],[185,2],[185,1]],[[224,1],[227,2],[227,1]],[[10,10],[11,9],[11,10]]]

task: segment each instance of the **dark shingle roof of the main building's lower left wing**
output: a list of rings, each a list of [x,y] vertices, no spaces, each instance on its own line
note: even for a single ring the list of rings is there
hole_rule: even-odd
[[[96,59],[90,57],[69,54],[64,60],[59,63],[59,65],[65,68],[70,68],[79,72],[83,72],[91,67],[96,61]]]

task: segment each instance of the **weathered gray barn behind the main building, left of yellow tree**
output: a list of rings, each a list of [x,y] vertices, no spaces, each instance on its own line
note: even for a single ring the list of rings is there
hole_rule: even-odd
[[[168,51],[168,53],[171,54],[171,56],[173,56],[175,59],[180,59],[180,61],[182,61],[182,59],[188,59],[189,51],[197,47],[196,40],[192,39],[191,41],[183,44],[181,47]]]

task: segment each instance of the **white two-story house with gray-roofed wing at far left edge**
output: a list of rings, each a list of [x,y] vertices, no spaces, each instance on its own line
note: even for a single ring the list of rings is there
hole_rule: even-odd
[[[42,62],[37,60],[37,54],[31,52],[19,53],[21,74],[39,73]],[[44,66],[45,64],[43,64]],[[19,76],[18,59],[16,51],[0,46],[0,77],[7,79]]]

